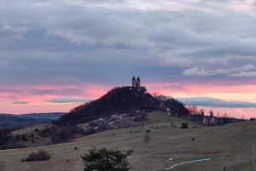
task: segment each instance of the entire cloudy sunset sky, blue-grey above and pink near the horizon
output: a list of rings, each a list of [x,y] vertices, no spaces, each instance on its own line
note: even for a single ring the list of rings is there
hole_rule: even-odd
[[[0,113],[69,111],[139,76],[149,93],[256,117],[254,0],[2,0]]]

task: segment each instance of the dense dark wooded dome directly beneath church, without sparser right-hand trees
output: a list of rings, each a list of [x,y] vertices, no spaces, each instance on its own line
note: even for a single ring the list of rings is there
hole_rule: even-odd
[[[108,91],[100,99],[79,105],[60,117],[57,123],[84,123],[100,117],[108,117],[117,112],[132,110],[154,110],[160,105],[143,88],[117,87]]]

